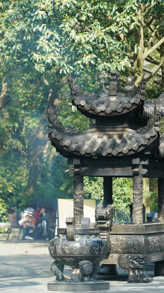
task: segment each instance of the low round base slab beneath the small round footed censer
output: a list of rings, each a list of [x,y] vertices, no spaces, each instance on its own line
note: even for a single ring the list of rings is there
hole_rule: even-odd
[[[58,293],[70,293],[70,292],[108,292],[109,291],[109,281],[91,281],[91,282],[73,282],[73,281],[63,281],[63,282],[50,282],[47,283],[47,290],[54,291]]]

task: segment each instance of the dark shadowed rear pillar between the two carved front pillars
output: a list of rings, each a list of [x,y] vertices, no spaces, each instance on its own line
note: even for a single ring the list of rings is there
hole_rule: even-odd
[[[108,205],[112,205],[112,177],[110,176],[104,176],[104,208],[106,208]]]

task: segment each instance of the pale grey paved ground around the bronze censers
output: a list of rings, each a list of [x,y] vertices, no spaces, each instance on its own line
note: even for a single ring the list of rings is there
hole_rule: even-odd
[[[48,241],[0,241],[0,293],[48,293],[47,282],[54,279],[51,264]],[[149,284],[128,284],[128,272],[118,271],[119,275],[107,278],[109,293],[164,293],[164,277],[154,277]]]

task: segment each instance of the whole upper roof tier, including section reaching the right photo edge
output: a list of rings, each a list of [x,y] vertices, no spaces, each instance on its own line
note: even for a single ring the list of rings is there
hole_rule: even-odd
[[[123,87],[119,82],[118,72],[113,70],[110,75],[109,92],[103,85],[101,95],[83,91],[78,84],[75,84],[72,77],[69,78],[69,85],[73,105],[90,118],[96,119],[97,117],[125,114],[142,105],[143,118],[148,120],[152,116],[156,102],[161,116],[164,116],[164,93],[158,99],[145,101],[145,75],[143,75],[138,87],[134,86],[131,76],[127,78],[127,84]]]

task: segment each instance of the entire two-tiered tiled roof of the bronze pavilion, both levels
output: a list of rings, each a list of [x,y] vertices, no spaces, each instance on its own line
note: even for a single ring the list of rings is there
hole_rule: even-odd
[[[142,152],[142,155],[164,158],[164,137],[160,138],[158,122],[164,115],[164,93],[156,100],[145,102],[145,76],[137,88],[131,77],[127,78],[127,86],[122,87],[118,72],[112,71],[109,93],[103,87],[104,93],[100,96],[82,91],[71,77],[69,84],[73,104],[87,117],[96,118],[96,125],[83,132],[65,128],[50,106],[49,138],[60,154],[65,157],[105,157],[135,156]],[[121,115],[123,113],[125,115]],[[104,116],[105,120],[101,118]]]

